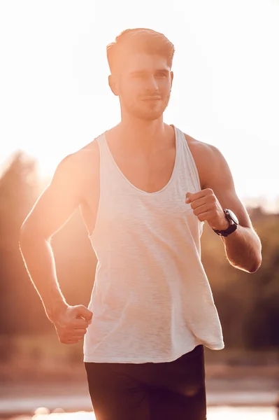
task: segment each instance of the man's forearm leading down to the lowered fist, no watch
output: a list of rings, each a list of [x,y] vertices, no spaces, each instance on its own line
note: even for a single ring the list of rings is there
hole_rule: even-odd
[[[67,304],[57,281],[55,258],[50,243],[42,237],[31,238],[23,234],[20,251],[31,282],[41,297],[45,313],[52,321],[55,313],[67,307]]]

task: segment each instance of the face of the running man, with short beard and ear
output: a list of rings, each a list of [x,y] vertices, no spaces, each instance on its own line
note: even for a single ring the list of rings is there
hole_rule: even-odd
[[[134,52],[125,57],[120,74],[110,76],[110,87],[120,99],[123,114],[157,120],[169,104],[173,72],[161,55]]]

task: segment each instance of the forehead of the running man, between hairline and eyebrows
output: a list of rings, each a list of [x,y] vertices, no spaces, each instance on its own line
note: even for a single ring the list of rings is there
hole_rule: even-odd
[[[170,70],[166,57],[147,52],[132,52],[123,57],[123,71],[133,73],[134,71],[156,71],[157,69]]]

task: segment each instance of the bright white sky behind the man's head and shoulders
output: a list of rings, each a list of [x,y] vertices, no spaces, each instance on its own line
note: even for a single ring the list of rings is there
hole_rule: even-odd
[[[120,120],[106,45],[150,27],[175,45],[165,113],[220,149],[245,202],[279,208],[279,1],[0,0],[0,164],[17,149],[51,175]]]

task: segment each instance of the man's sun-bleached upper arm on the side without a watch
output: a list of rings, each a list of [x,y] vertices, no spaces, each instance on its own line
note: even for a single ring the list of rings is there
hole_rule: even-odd
[[[67,156],[59,163],[52,181],[31,209],[22,225],[22,233],[40,234],[49,239],[69,220],[81,200],[79,176],[74,158]]]

